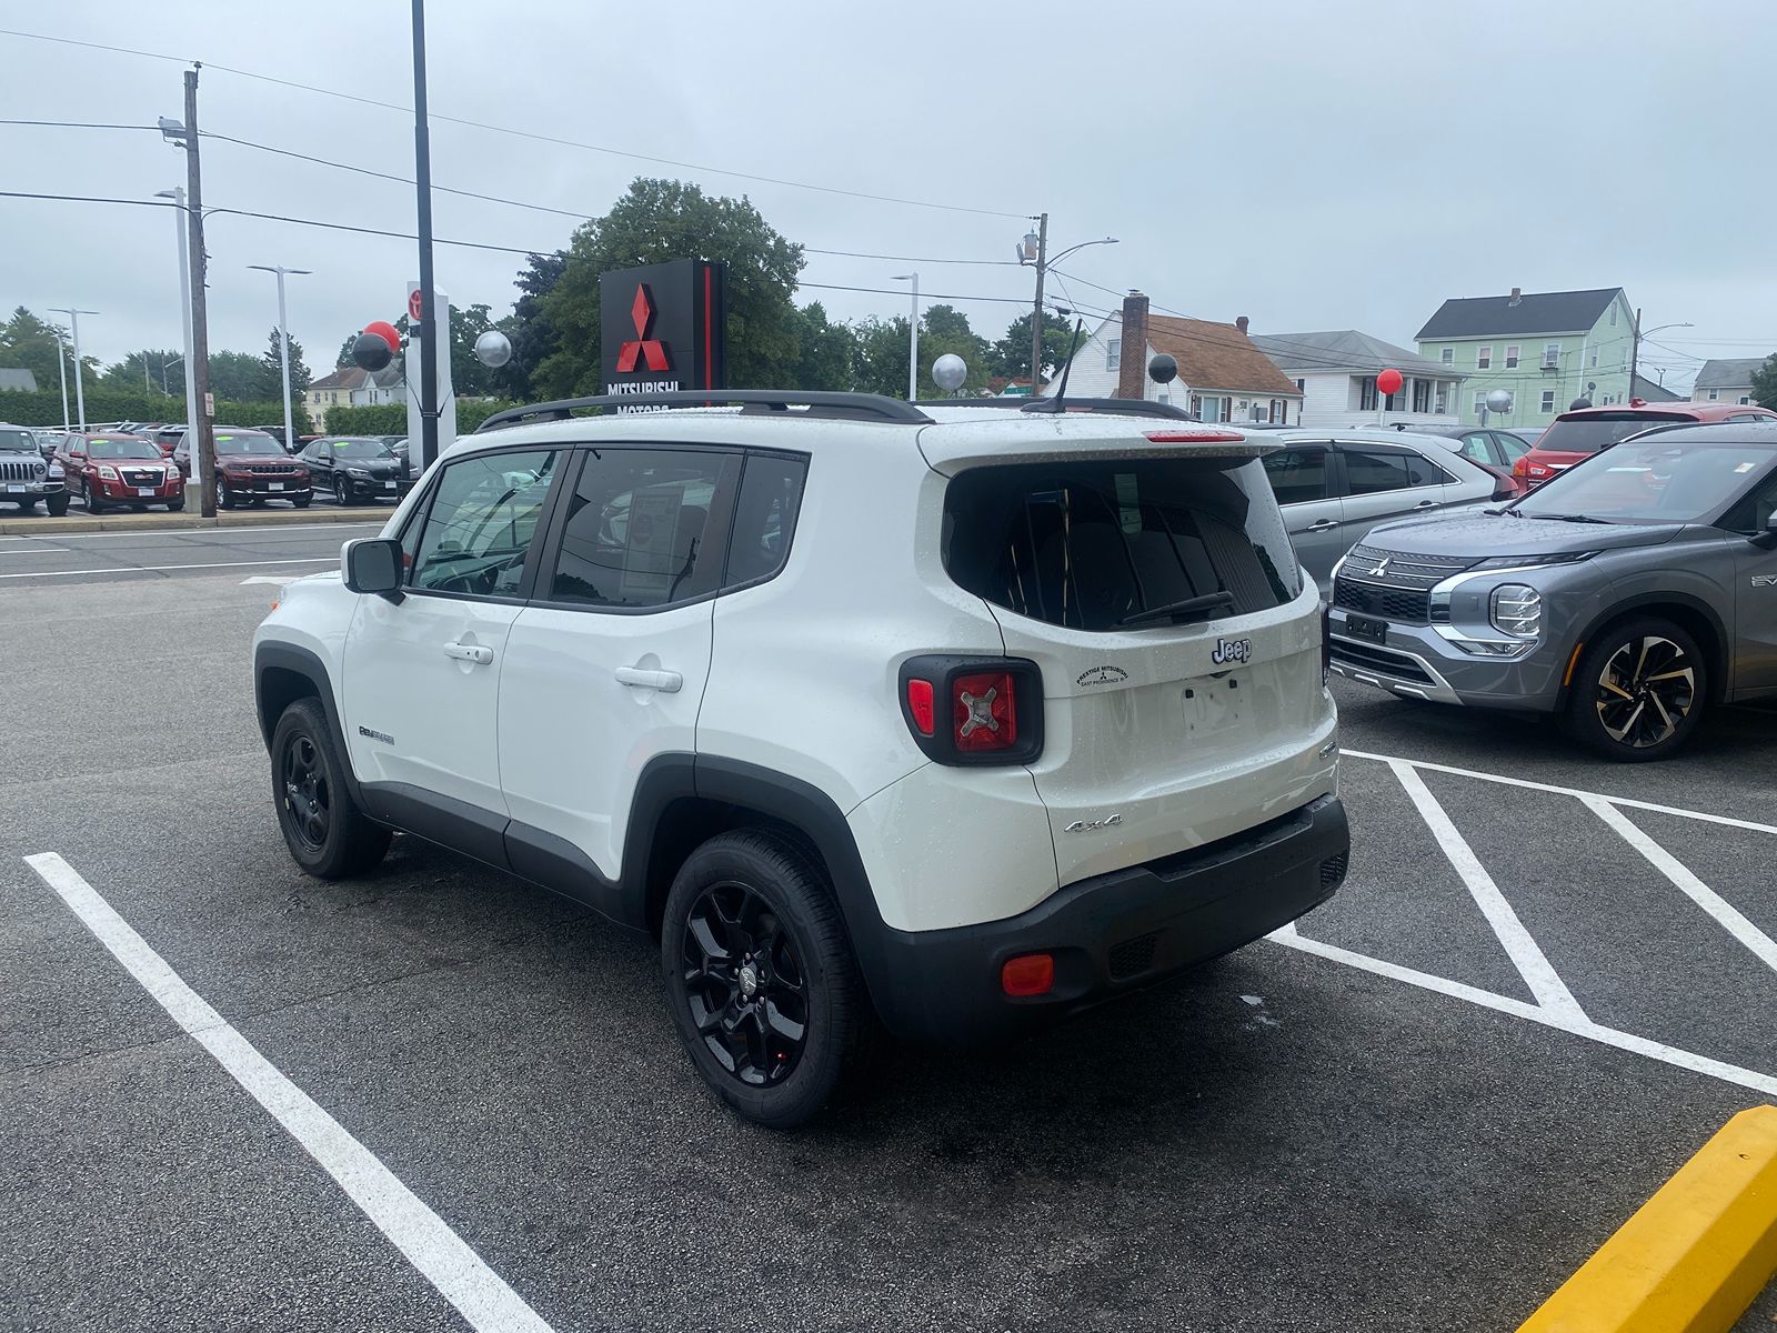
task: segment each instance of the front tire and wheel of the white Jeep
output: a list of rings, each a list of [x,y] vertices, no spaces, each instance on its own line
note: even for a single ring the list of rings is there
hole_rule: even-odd
[[[389,830],[352,800],[345,755],[316,698],[299,698],[277,720],[272,800],[291,858],[320,880],[363,874],[389,850]]]

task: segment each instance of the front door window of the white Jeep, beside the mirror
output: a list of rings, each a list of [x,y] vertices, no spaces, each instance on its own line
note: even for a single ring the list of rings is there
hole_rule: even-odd
[[[554,464],[554,450],[483,453],[450,464],[419,533],[412,587],[517,595]]]

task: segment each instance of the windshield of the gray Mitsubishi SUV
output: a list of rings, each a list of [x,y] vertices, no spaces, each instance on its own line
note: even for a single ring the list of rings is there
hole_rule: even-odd
[[[1605,523],[1704,523],[1772,471],[1777,453],[1757,444],[1676,444],[1654,435],[1560,473],[1512,505],[1535,517],[1585,515]]]

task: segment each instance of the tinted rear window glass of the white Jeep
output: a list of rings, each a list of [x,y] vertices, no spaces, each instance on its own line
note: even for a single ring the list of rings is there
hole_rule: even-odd
[[[967,471],[944,499],[944,567],[993,606],[1072,629],[1214,592],[1246,615],[1301,590],[1258,459]]]

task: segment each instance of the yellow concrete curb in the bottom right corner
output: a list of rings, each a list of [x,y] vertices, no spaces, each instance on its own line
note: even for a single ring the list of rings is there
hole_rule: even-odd
[[[1727,1333],[1777,1273],[1777,1106],[1729,1120],[1519,1333]]]

